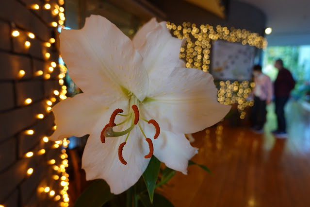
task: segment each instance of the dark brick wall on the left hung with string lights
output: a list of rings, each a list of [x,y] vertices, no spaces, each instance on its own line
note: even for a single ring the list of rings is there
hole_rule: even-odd
[[[56,2],[49,0],[53,5]],[[31,4],[38,4],[39,10],[30,9]],[[60,174],[48,164],[55,159],[61,162],[60,147],[54,148],[54,142],[44,142],[53,130],[53,116],[47,110],[47,101],[59,97],[53,90],[59,90],[59,68],[49,72],[52,61],[58,63],[56,29],[50,27],[54,21],[51,11],[42,9],[45,0],[6,0],[0,6],[0,205],[4,207],[17,206],[56,206],[56,196],[62,190],[59,180],[52,175]],[[57,20],[56,20],[57,21]],[[19,31],[14,37],[12,31]],[[28,32],[35,35],[34,39]],[[56,39],[51,47],[45,45],[49,39]],[[31,46],[25,47],[25,41]],[[46,58],[46,52],[50,58]],[[20,78],[19,71],[25,74]],[[36,71],[42,70],[43,75]],[[46,78],[50,74],[50,78]],[[25,100],[31,98],[31,104]],[[43,119],[36,118],[43,114]],[[25,134],[32,129],[33,135]],[[45,149],[43,155],[39,151]],[[33,152],[32,157],[26,157],[27,152]],[[42,151],[40,151],[42,152]],[[31,175],[27,170],[33,168]],[[61,175],[59,175],[61,177]],[[49,186],[55,191],[54,196],[42,192]],[[49,190],[49,191],[50,191]]]

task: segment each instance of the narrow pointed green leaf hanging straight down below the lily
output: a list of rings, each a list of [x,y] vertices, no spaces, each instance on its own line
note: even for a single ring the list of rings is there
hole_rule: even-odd
[[[149,200],[151,203],[153,203],[153,195],[160,167],[161,161],[153,155],[148,163],[146,171],[143,173],[143,179],[146,183]]]

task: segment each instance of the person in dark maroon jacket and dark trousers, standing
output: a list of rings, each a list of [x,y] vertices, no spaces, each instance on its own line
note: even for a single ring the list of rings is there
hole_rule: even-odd
[[[279,138],[286,138],[286,121],[284,117],[284,106],[289,100],[291,90],[295,87],[295,81],[291,72],[283,67],[283,61],[277,59],[275,67],[279,70],[274,83],[275,104],[277,114],[277,130],[273,133]]]

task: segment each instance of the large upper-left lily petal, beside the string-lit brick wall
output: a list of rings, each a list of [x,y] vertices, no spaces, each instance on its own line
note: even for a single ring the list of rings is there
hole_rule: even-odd
[[[60,40],[70,77],[84,93],[118,97],[123,87],[144,100],[147,90],[141,88],[148,79],[142,57],[109,20],[92,15],[81,30],[63,30]]]

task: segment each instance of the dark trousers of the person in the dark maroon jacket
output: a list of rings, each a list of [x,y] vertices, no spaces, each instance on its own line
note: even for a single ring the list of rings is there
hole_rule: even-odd
[[[276,97],[276,114],[277,114],[277,130],[280,132],[286,132],[286,122],[284,117],[284,106],[289,100],[288,96]]]

